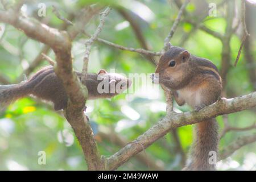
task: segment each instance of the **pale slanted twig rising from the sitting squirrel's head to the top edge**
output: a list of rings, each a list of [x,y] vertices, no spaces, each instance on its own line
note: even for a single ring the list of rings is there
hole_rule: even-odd
[[[175,19],[174,24],[172,25],[171,31],[169,32],[169,34],[167,35],[167,37],[164,39],[164,47],[163,47],[163,51],[167,51],[168,48],[168,43],[170,42],[172,36],[174,36],[174,32],[177,29],[177,26],[181,20],[181,15],[183,14],[183,11],[185,9],[185,7],[188,5],[188,3],[190,2],[190,0],[186,0],[183,5],[180,7],[179,13],[177,15],[177,18]]]

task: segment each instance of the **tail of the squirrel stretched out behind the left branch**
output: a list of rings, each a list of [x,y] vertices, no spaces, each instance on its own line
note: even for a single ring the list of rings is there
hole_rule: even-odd
[[[27,96],[26,85],[22,83],[13,85],[0,85],[0,111],[5,109],[11,102]]]

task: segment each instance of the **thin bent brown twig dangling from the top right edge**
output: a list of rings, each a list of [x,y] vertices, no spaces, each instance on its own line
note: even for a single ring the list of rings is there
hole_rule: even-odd
[[[243,38],[242,38],[241,46],[240,46],[238,54],[237,54],[237,59],[234,63],[235,67],[237,66],[238,60],[240,58],[243,45],[245,44],[245,40],[246,40],[247,36],[250,36],[250,34],[247,31],[246,23],[245,23],[245,0],[242,0],[242,5],[241,5],[241,22],[242,22],[243,34],[244,35],[243,35]]]

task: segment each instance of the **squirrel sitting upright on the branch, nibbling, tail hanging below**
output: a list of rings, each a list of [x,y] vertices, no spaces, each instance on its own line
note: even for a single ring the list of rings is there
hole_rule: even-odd
[[[217,67],[210,61],[172,46],[159,60],[152,81],[172,90],[179,106],[187,103],[199,111],[220,98],[222,85]],[[218,124],[215,118],[196,123],[196,138],[189,162],[183,170],[216,170],[209,152],[218,151]]]

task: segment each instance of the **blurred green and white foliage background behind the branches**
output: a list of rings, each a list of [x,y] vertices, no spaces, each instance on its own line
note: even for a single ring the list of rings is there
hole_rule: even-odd
[[[252,0],[251,0],[252,1]],[[100,1],[65,0],[65,1],[32,1],[22,7],[24,14],[60,28],[63,21],[52,12],[55,5],[60,14],[66,18],[72,17],[84,6]],[[178,13],[174,1],[143,0],[143,1],[101,1],[115,5],[106,18],[104,29],[100,38],[109,40],[126,47],[141,48],[142,40],[138,39],[138,32],[134,30],[125,14],[133,19],[141,31],[147,48],[159,51],[163,48],[163,40],[170,31]],[[181,1],[182,2],[182,1]],[[199,22],[210,30],[225,34],[227,24],[227,3],[224,1],[192,1],[186,8],[185,19]],[[253,1],[252,1],[253,2]],[[8,1],[11,5],[13,1]],[[45,3],[46,17],[39,17],[38,3]],[[216,3],[217,16],[207,16],[209,3]],[[235,16],[233,27],[240,18],[240,1],[234,3]],[[251,93],[256,89],[253,82],[253,72],[256,72],[256,7],[246,6],[246,23],[251,36],[249,41],[249,54],[253,60],[246,59],[243,49],[237,67],[233,66],[238,49],[241,44],[242,28],[239,26],[230,39],[230,67],[225,77],[226,97],[236,97]],[[3,7],[0,5],[0,9]],[[121,9],[121,10],[120,10]],[[203,18],[202,18],[203,17]],[[71,19],[72,21],[74,19]],[[96,15],[85,26],[86,32],[93,34],[99,23]],[[32,63],[43,48],[43,44],[27,38],[23,32],[14,27],[0,23],[0,75],[5,80],[0,84],[17,83],[24,80],[24,70]],[[191,23],[181,20],[171,43],[183,46],[193,55],[205,57],[213,61],[221,69],[221,52],[223,44],[220,39],[208,34],[199,28],[194,28]],[[73,67],[81,71],[82,59],[85,51],[85,35],[79,35],[73,41]],[[248,45],[247,45],[248,46]],[[248,53],[248,52],[247,52]],[[48,55],[54,59],[52,51]],[[159,57],[154,58],[158,61]],[[32,73],[48,65],[43,60]],[[121,51],[94,43],[89,58],[89,72],[97,72],[100,68],[107,71],[125,73],[152,73],[155,65],[146,57],[138,53]],[[30,73],[30,75],[32,74]],[[30,75],[26,75],[30,77]],[[254,80],[255,81],[255,80]],[[144,131],[150,129],[166,114],[166,102],[161,88],[147,88],[148,82],[142,82],[134,88],[134,92],[120,94],[112,99],[87,101],[86,114],[91,125],[102,155],[110,156],[117,152],[126,143],[131,142]],[[187,105],[179,107],[175,104],[176,111],[189,111]],[[217,117],[220,133],[224,120],[231,126],[246,127],[256,122],[255,109],[241,111]],[[180,170],[189,152],[192,143],[193,126],[180,127],[165,137],[159,139],[145,152],[134,156],[129,162],[119,167],[119,170],[147,170],[166,169]],[[255,128],[246,131],[230,131],[221,138],[220,150],[228,146],[240,136],[255,133]],[[38,152],[46,152],[46,165],[38,164]],[[229,158],[218,162],[218,169],[227,170],[255,170],[256,169],[256,144],[251,143],[234,152]],[[81,147],[69,123],[65,121],[61,112],[53,111],[50,103],[27,97],[11,104],[4,112],[0,113],[0,169],[1,170],[85,170],[86,163]]]

